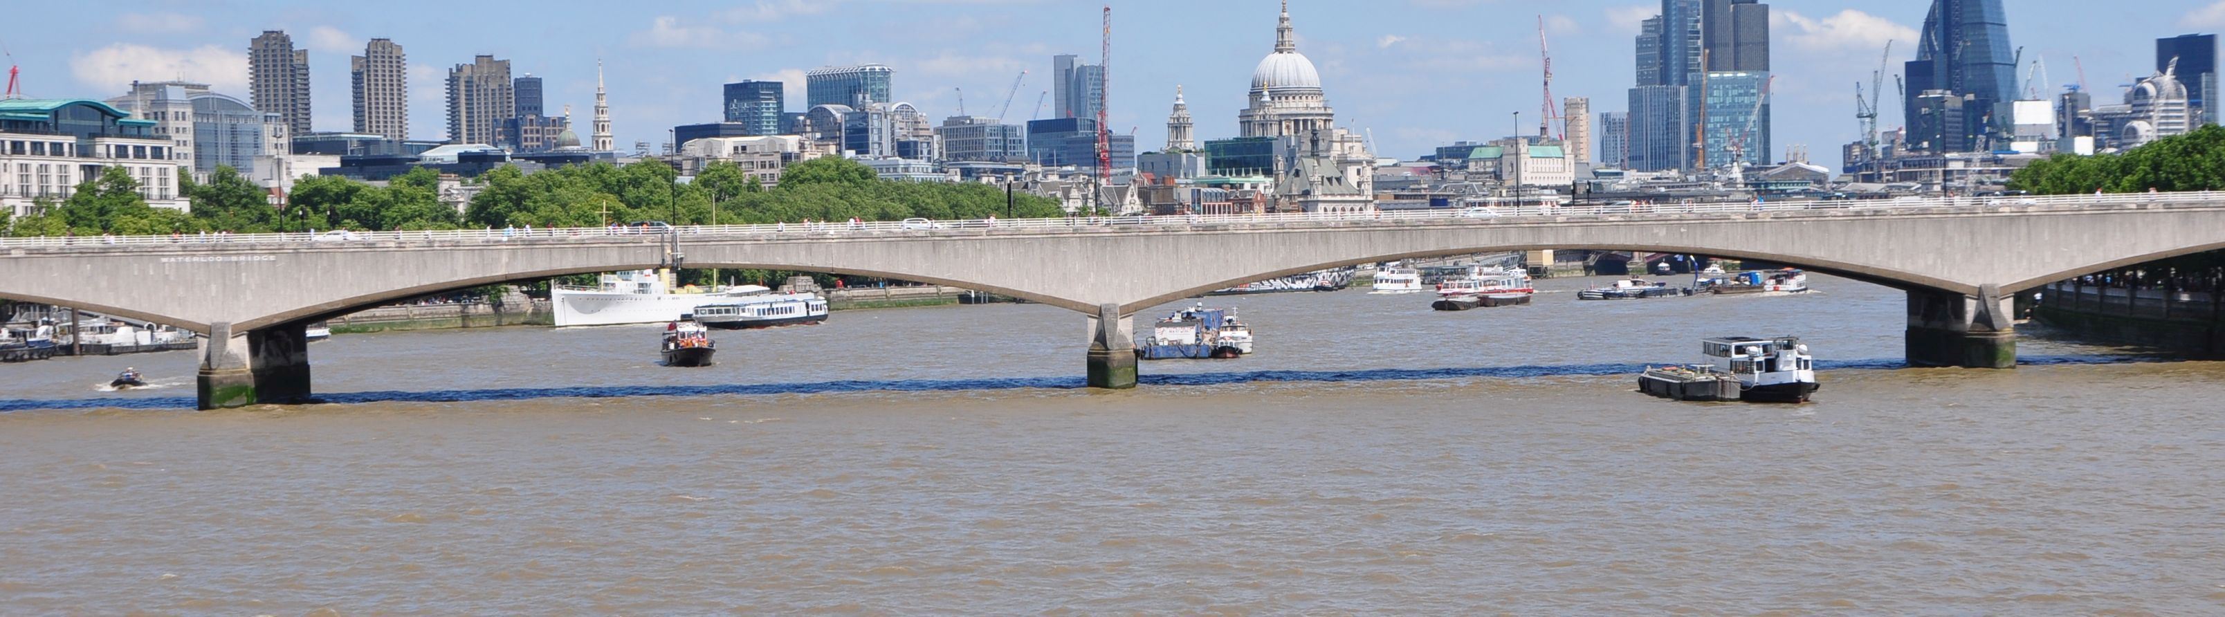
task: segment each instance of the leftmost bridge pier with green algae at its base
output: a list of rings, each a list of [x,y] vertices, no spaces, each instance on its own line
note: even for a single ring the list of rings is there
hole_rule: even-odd
[[[234,334],[231,323],[209,325],[209,339],[200,341],[194,394],[200,410],[309,401],[307,323],[245,334]]]

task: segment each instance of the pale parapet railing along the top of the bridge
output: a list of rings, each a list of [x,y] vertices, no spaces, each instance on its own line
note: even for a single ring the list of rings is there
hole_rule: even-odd
[[[358,243],[514,243],[514,241],[659,241],[668,234],[688,236],[886,236],[948,232],[1099,232],[1099,229],[1188,229],[1226,225],[1322,225],[1322,223],[1426,223],[1426,221],[1531,221],[1582,216],[1673,216],[1673,214],[1767,214],[1767,212],[1900,212],[1900,209],[1987,209],[1987,207],[2100,207],[2100,205],[2225,205],[2225,192],[2180,194],[2094,194],[2094,196],[1978,196],[1978,198],[1876,198],[1876,200],[1749,200],[1749,203],[1586,203],[1586,205],[1475,205],[1437,209],[1368,209],[1368,212],[1284,212],[1284,214],[1175,214],[1175,216],[1061,216],[1061,218],[975,218],[975,221],[810,221],[756,225],[681,225],[681,227],[481,227],[432,232],[352,232],[316,234],[171,234],[171,236],[36,236],[0,238],[0,247],[238,247],[238,245],[358,245]]]

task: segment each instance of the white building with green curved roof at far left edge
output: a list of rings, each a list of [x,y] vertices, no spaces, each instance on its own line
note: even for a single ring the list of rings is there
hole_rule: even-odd
[[[0,207],[29,216],[40,198],[69,198],[78,183],[122,167],[147,205],[187,209],[174,145],[154,127],[98,100],[0,100]]]

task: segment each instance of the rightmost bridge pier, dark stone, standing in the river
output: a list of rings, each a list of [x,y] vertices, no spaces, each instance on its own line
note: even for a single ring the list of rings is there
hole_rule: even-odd
[[[1909,365],[2016,368],[2011,303],[1998,285],[1978,296],[1909,292]]]

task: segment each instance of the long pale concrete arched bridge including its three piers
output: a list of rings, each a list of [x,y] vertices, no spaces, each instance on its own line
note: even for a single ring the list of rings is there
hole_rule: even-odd
[[[2225,247],[2225,192],[1464,214],[0,238],[0,298],[209,334],[202,408],[303,401],[309,321],[490,283],[656,267],[676,243],[688,267],[886,276],[1075,310],[1092,323],[1088,383],[1133,388],[1130,316],[1166,301],[1391,258],[1631,249],[1758,258],[1898,287],[1909,294],[1909,363],[2009,368],[2014,292]]]

